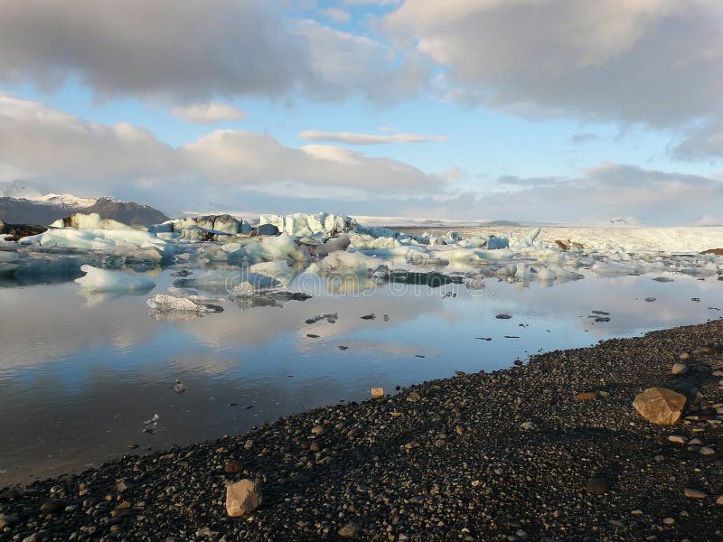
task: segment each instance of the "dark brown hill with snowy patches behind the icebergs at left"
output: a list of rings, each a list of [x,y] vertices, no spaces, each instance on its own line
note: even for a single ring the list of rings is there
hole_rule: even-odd
[[[23,198],[0,197],[0,220],[10,224],[38,224],[47,226],[55,220],[65,218],[75,212],[97,212],[101,219],[117,220],[131,226],[150,226],[168,220],[160,210],[133,201],[115,201],[100,198],[84,208],[68,208],[44,201],[31,201]]]

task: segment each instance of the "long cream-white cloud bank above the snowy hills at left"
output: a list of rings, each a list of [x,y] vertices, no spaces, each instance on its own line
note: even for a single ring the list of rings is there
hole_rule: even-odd
[[[441,178],[408,164],[340,147],[294,148],[269,135],[216,130],[174,148],[143,128],[87,122],[39,102],[2,95],[0,141],[0,171],[12,168],[24,178],[51,179],[65,187],[80,183],[101,193],[127,182],[140,190],[181,180],[202,182],[203,191],[293,186],[320,193],[345,189],[357,196],[444,186]]]

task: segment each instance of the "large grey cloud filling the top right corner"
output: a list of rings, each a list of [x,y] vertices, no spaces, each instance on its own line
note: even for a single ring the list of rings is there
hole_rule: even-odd
[[[680,126],[723,104],[722,18],[712,0],[407,0],[385,28],[467,104]]]

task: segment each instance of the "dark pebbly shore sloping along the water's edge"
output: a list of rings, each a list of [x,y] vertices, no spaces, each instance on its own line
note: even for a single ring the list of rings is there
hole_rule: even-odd
[[[5,488],[0,539],[723,539],[721,347],[716,321],[552,351]],[[635,410],[651,387],[676,425]]]

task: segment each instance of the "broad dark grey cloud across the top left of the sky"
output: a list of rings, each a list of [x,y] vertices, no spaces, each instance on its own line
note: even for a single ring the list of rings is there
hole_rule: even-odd
[[[295,91],[382,101],[378,77],[394,101],[426,79],[402,53],[295,20],[288,8],[284,0],[3,0],[0,83],[54,89],[78,79],[98,98],[193,104]],[[341,22],[343,11],[324,13]]]

